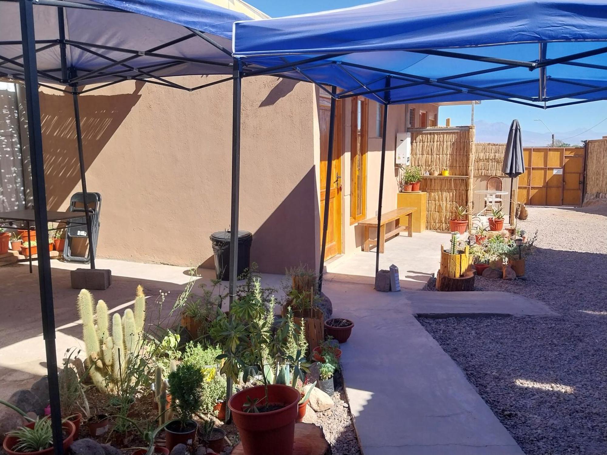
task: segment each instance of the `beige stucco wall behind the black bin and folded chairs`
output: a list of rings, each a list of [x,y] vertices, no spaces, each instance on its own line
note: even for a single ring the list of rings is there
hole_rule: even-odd
[[[56,93],[41,92],[42,125],[49,209],[64,209],[80,181],[72,97]],[[229,228],[232,84],[123,83],[80,109],[89,191],[103,197],[98,256],[212,267],[209,235]],[[240,229],[265,272],[317,263],[313,112],[312,84],[243,81]]]

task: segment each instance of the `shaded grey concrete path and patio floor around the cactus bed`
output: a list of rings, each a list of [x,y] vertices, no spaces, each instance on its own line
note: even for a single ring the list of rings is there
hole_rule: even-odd
[[[398,240],[398,239],[395,239]],[[69,269],[52,261],[57,357],[83,347],[75,308],[78,289],[70,288]],[[148,295],[148,318],[160,291],[169,292],[166,314],[190,277],[188,269],[98,260],[112,269],[112,286],[95,291],[110,312],[132,305],[135,287]],[[198,283],[209,283],[213,271],[200,270]],[[262,275],[265,286],[280,288],[283,275]],[[196,292],[197,288],[194,288]],[[330,280],[324,292],[334,316],[354,320],[350,340],[342,345],[348,400],[365,455],[522,454],[463,372],[419,325],[414,314],[518,316],[555,315],[543,303],[506,292],[380,293],[372,286]],[[0,397],[27,388],[46,374],[41,335],[38,274],[27,265],[0,268]],[[158,312],[158,311],[157,311]]]

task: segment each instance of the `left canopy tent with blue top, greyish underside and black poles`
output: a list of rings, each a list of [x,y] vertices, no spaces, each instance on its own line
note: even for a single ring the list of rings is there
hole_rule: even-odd
[[[78,96],[127,80],[188,91],[232,80],[232,24],[242,19],[248,17],[203,0],[0,0],[0,79],[25,84],[33,209],[41,244],[46,244],[49,232],[38,86],[73,96],[86,206]],[[194,87],[167,79],[221,74],[230,76]],[[83,88],[90,84],[96,85]],[[88,212],[86,215],[90,266],[95,268],[90,217]],[[38,254],[53,446],[55,454],[63,454],[50,255],[44,248]],[[234,283],[230,294],[232,300]]]

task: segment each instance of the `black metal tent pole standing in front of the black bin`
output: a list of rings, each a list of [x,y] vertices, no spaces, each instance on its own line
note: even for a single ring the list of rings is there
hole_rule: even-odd
[[[236,280],[238,274],[238,215],[240,203],[240,99],[242,92],[242,62],[234,59],[234,85],[232,90],[232,200],[229,238],[229,306],[236,296]],[[231,316],[230,316],[231,317]],[[228,378],[226,403],[232,396],[232,380]],[[226,422],[229,422],[230,412],[226,406]]]

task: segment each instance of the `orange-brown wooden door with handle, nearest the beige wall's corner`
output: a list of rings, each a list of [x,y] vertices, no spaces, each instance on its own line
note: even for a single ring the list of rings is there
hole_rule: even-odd
[[[337,101],[335,109],[335,132],[333,136],[333,163],[331,164],[331,187],[329,191],[329,221],[327,226],[327,246],[325,260],[342,252],[342,101]],[[329,147],[329,122],[331,118],[331,99],[320,95],[319,98],[319,127],[320,127],[320,242],[324,223],[325,203],[327,192],[327,157]]]

